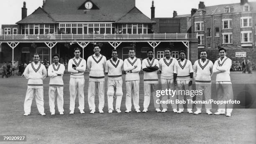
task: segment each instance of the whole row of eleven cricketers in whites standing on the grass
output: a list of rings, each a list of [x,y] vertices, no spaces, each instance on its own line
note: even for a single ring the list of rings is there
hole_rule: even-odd
[[[171,57],[171,50],[166,48],[164,50],[164,57],[160,60],[154,58],[154,51],[147,50],[148,58],[142,62],[139,58],[135,57],[135,50],[129,50],[129,58],[124,61],[118,58],[118,51],[112,50],[112,58],[106,60],[106,57],[100,54],[100,47],[94,45],[94,55],[88,57],[87,62],[80,57],[81,50],[79,48],[74,49],[74,58],[68,62],[68,72],[70,72],[69,80],[69,114],[74,114],[75,99],[78,95],[79,107],[81,114],[84,114],[84,72],[87,68],[89,71],[89,87],[88,87],[88,104],[90,113],[95,113],[95,93],[99,97],[98,111],[103,112],[105,104],[105,74],[108,75],[107,82],[107,97],[108,97],[108,113],[114,111],[113,101],[115,102],[115,111],[120,113],[120,105],[123,97],[122,85],[123,70],[126,72],[125,84],[126,84],[126,97],[125,97],[125,112],[131,112],[132,99],[133,106],[136,112],[140,111],[139,106],[139,89],[140,89],[140,77],[139,72],[143,70],[143,82],[144,82],[144,102],[143,111],[148,112],[148,106],[150,104],[151,95],[154,99],[154,107],[156,112],[166,112],[168,107],[166,103],[159,103],[159,97],[156,96],[156,90],[159,89],[158,71],[161,72],[161,89],[179,89],[179,90],[191,90],[193,76],[195,79],[196,89],[203,92],[202,95],[196,97],[197,101],[202,101],[202,97],[205,100],[211,99],[211,76],[213,73],[217,73],[216,76],[216,89],[218,100],[233,100],[233,89],[230,81],[230,67],[232,61],[226,57],[226,50],[224,48],[219,49],[220,58],[213,64],[212,61],[207,59],[207,52],[202,50],[200,52],[200,59],[195,61],[194,67],[192,67],[191,61],[186,59],[186,52],[179,52],[179,60]],[[63,79],[65,67],[59,63],[59,55],[52,55],[54,63],[48,68],[49,82],[49,106],[51,115],[55,114],[55,97],[57,95],[57,107],[59,114],[64,114],[64,100],[63,100]],[[28,64],[24,71],[24,76],[28,79],[28,89],[26,92],[26,98],[24,102],[24,116],[28,116],[31,113],[31,104],[33,97],[36,99],[36,105],[38,112],[41,115],[44,113],[44,90],[43,79],[47,76],[47,71],[44,65],[39,62],[40,56],[38,54],[33,55],[33,62]],[[192,99],[189,95],[185,95],[187,100]],[[174,102],[176,99],[183,101],[184,95],[175,95],[170,97]],[[161,101],[167,101],[168,95],[161,95]],[[184,112],[183,104],[171,104],[173,112]],[[218,105],[218,112],[214,114],[226,114],[230,117],[233,105],[227,104]],[[162,108],[162,110],[160,109]],[[194,114],[200,114],[202,104],[196,104],[196,111]],[[205,104],[207,114],[212,114],[211,104]],[[187,103],[187,112],[192,112],[192,104]],[[225,113],[226,112],[226,113]]]

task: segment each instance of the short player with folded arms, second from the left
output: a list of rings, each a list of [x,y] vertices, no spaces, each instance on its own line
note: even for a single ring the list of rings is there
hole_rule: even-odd
[[[49,106],[51,115],[55,114],[55,96],[57,93],[57,106],[59,114],[64,114],[63,109],[63,79],[62,76],[65,71],[65,66],[59,63],[59,54],[52,56],[54,63],[48,67],[48,76],[51,77],[49,83]]]

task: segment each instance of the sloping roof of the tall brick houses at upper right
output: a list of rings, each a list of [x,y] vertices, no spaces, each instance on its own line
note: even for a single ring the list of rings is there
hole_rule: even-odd
[[[245,3],[244,5],[246,5],[247,3]],[[203,9],[199,9],[197,11],[200,10],[205,10],[205,13],[203,15],[220,15],[220,14],[224,14],[225,13],[225,7],[232,7],[232,10],[230,11],[230,13],[239,13],[239,12],[243,12],[243,6],[241,5],[241,3],[232,3],[232,4],[225,4],[225,5],[213,5],[213,6],[209,6],[209,7],[204,7]],[[256,10],[256,2],[248,2],[248,5],[250,5],[250,9],[251,11],[255,11]],[[195,14],[193,16],[197,16],[197,12],[195,12]]]

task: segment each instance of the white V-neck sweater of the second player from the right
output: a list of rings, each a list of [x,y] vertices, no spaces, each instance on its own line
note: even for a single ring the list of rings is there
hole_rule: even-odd
[[[206,59],[203,62],[201,59],[196,60],[194,63],[194,77],[196,84],[211,83],[212,75],[212,61]]]

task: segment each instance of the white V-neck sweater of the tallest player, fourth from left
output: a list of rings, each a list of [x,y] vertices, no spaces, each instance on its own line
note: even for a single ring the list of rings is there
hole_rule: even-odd
[[[96,57],[95,54],[88,57],[87,69],[89,73],[89,82],[105,82],[105,65],[106,57],[99,55]]]

